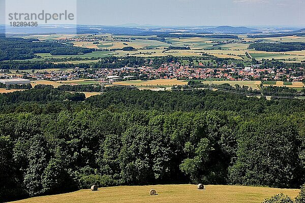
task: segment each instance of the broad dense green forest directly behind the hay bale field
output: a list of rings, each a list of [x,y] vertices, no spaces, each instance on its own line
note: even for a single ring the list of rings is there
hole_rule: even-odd
[[[0,201],[113,185],[305,182],[305,101],[50,86],[0,95]]]

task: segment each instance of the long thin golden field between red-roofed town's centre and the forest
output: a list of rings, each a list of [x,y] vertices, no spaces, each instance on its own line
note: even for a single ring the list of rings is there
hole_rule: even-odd
[[[133,80],[133,81],[123,81],[123,82],[115,82],[115,85],[134,85],[134,86],[174,86],[174,85],[187,85],[188,82],[172,79],[172,80]]]

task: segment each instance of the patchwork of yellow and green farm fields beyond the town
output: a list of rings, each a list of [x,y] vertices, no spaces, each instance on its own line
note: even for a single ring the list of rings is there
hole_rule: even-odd
[[[79,58],[91,58],[91,57],[107,57],[107,56],[139,56],[139,57],[154,57],[154,56],[200,56],[203,53],[211,54],[219,58],[235,58],[245,59],[246,51],[251,54],[257,60],[264,59],[278,59],[284,62],[301,62],[305,60],[305,50],[303,51],[288,51],[288,52],[265,52],[250,50],[249,45],[255,41],[261,42],[305,42],[305,37],[276,37],[276,38],[247,38],[246,35],[239,35],[241,40],[232,39],[215,39],[215,38],[198,38],[198,37],[186,37],[186,38],[165,38],[166,42],[157,40],[148,40],[148,38],[156,36],[115,36],[115,35],[98,35],[88,37],[88,35],[46,35],[46,36],[29,36],[35,37],[40,40],[59,40],[59,39],[72,39],[87,36],[87,38],[103,37],[102,41],[98,41],[99,44],[93,44],[94,42],[73,42],[74,46],[83,48],[95,48],[103,51],[96,51],[84,55],[58,55],[52,56],[50,54],[37,54],[42,58],[35,58],[29,60],[44,60],[49,58],[67,58],[67,57],[79,57]],[[124,42],[124,40],[128,42]],[[247,42],[247,43],[245,43]],[[220,44],[219,44],[220,43]],[[127,46],[132,46],[135,51],[105,51],[105,49],[121,49]],[[169,50],[165,49],[169,46],[176,47],[190,47],[191,50]],[[86,61],[67,61],[65,63],[90,63],[97,62],[96,60]]]

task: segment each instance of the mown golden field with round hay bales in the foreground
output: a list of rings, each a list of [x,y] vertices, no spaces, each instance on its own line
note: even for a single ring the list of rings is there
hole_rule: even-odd
[[[150,196],[150,189],[158,195]],[[266,187],[208,185],[198,190],[196,185],[155,185],[155,186],[119,186],[99,188],[98,191],[79,190],[76,192],[51,196],[34,197],[15,201],[18,203],[108,203],[108,202],[209,202],[209,203],[256,203],[277,193],[285,193],[292,198],[297,189],[277,189]]]

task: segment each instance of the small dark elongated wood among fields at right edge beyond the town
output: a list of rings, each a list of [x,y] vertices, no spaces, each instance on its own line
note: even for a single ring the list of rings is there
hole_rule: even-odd
[[[249,49],[257,51],[301,51],[305,49],[305,43],[301,42],[282,42],[282,43],[254,43],[249,46]]]

